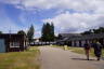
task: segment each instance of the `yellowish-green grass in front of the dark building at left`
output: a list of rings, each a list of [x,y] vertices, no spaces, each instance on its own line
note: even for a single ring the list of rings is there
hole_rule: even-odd
[[[0,69],[39,69],[38,55],[35,46],[25,52],[0,53]]]

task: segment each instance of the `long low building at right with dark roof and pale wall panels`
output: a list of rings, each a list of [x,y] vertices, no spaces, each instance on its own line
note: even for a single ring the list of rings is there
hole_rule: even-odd
[[[92,33],[92,34],[72,34],[69,36],[64,34],[63,40],[60,40],[60,43],[67,44],[69,46],[83,46],[86,42],[92,43],[94,40],[98,40],[104,46],[104,33]],[[63,34],[62,34],[63,37]],[[67,38],[67,39],[66,39]],[[66,40],[65,40],[66,39]]]

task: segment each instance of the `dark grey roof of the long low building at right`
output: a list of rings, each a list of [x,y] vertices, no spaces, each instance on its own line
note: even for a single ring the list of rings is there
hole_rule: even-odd
[[[80,33],[60,33],[63,39],[58,41],[93,40],[104,38],[104,33],[92,33],[81,36]]]

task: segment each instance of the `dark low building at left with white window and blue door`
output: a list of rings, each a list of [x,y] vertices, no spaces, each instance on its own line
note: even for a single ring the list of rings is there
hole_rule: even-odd
[[[27,46],[27,38],[24,34],[0,34],[0,52],[20,52],[26,50]]]

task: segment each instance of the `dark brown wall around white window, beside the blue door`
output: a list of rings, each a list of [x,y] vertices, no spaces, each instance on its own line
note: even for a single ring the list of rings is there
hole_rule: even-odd
[[[4,39],[5,52],[20,52],[26,47],[24,44],[26,39],[23,34],[0,34],[0,39]],[[15,46],[15,43],[18,45]]]

